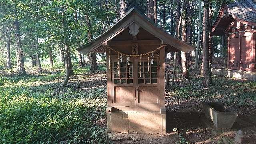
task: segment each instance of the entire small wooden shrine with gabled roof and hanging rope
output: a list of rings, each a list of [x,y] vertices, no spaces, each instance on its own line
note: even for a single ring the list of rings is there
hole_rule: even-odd
[[[79,48],[84,54],[106,53],[108,132],[166,133],[165,53],[193,49],[159,28],[138,6]]]

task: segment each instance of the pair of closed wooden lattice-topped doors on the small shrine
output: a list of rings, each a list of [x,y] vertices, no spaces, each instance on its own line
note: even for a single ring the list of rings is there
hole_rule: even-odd
[[[123,62],[119,59],[118,66],[117,56],[112,56],[113,106],[132,106],[147,110],[160,106],[157,54],[154,54],[153,60],[153,64],[148,66],[148,56],[142,57],[141,60],[130,58],[129,66],[125,57]]]

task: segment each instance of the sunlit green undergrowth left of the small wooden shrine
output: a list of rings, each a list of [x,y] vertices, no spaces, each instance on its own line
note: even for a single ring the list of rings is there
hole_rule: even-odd
[[[89,70],[74,67],[75,74]],[[0,143],[108,143],[94,123],[105,117],[106,88],[60,89],[64,75],[0,75]]]

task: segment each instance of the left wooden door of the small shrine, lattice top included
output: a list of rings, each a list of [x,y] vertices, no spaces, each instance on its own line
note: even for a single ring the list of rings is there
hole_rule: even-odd
[[[112,55],[112,106],[135,106],[134,63],[135,58],[130,58],[129,65],[123,56],[118,66],[118,56]]]

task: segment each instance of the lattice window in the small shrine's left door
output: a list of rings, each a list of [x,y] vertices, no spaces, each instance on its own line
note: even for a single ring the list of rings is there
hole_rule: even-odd
[[[119,75],[118,75],[117,62],[114,62],[114,84],[132,84],[133,83],[132,66],[133,66],[132,62],[130,62],[130,66],[128,65],[127,62],[120,62]]]

